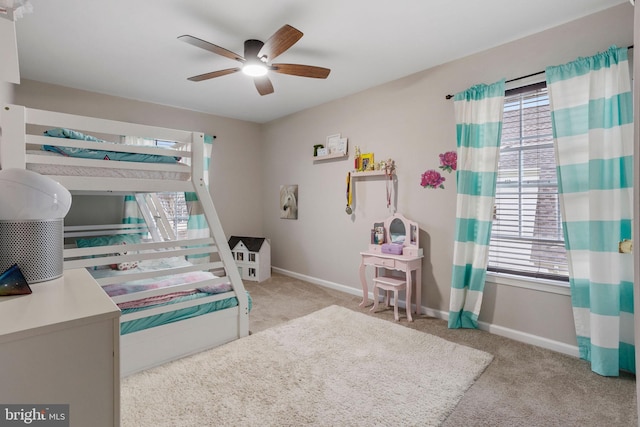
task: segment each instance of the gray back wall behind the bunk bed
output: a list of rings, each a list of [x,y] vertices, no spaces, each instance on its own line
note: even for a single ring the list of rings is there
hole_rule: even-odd
[[[27,107],[215,135],[209,182],[223,229],[227,237],[262,235],[263,202],[256,184],[262,174],[259,125],[25,79],[15,92],[15,103]],[[119,221],[120,202],[106,200],[96,210],[99,198],[75,197],[67,223]]]

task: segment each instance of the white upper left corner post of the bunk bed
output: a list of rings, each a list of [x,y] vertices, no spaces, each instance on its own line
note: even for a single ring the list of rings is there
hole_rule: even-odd
[[[18,105],[4,105],[0,111],[0,169],[4,165],[12,168],[26,167],[26,109]]]

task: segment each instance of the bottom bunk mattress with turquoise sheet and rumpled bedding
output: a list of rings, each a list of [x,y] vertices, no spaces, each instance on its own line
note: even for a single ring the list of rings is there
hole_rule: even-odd
[[[152,271],[159,268],[176,268],[191,265],[184,258],[165,258],[161,260],[141,261],[139,266],[134,270]],[[132,270],[118,271],[111,269],[90,270],[94,278],[104,278],[110,276],[122,276],[126,280],[126,275]],[[102,286],[102,289],[114,299],[122,311],[124,320],[120,324],[120,334],[126,335],[138,332],[143,329],[149,329],[156,326],[166,325],[168,323],[178,322],[181,320],[201,316],[203,314],[212,313],[238,306],[238,299],[233,295],[230,283],[220,283],[210,286],[196,287],[193,289],[182,289],[172,292],[171,288],[184,285],[187,283],[202,283],[208,279],[215,279],[213,273],[206,271],[192,271],[188,273],[170,274],[161,277],[140,279],[133,281],[123,281],[122,283],[110,284]],[[165,290],[158,295],[149,297],[135,298],[136,293],[142,293],[149,290],[161,289]],[[149,316],[139,317],[132,320],[126,320],[126,316],[131,313],[144,313],[146,310],[157,309],[159,307],[168,307],[174,304],[187,303],[202,298],[211,297],[212,295],[220,295],[219,299],[189,307],[179,308],[176,310],[167,309],[158,314],[150,314]],[[228,294],[228,296],[225,296]],[[248,307],[251,310],[252,300],[248,292]]]

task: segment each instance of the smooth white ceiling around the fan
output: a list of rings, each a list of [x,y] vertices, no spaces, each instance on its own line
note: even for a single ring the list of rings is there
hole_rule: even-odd
[[[23,79],[268,122],[628,0],[31,0],[16,22]],[[270,74],[260,96],[237,62],[177,40],[243,54],[282,25],[304,33],[275,62],[330,68],[326,80]]]

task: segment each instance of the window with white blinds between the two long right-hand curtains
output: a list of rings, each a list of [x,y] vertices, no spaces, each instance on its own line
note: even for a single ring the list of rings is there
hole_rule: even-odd
[[[549,97],[507,91],[488,271],[568,281]]]

